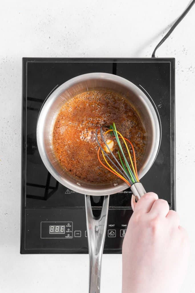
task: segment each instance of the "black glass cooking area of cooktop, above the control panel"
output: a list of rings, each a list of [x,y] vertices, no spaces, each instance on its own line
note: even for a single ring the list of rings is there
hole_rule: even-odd
[[[84,207],[84,197],[58,183],[42,163],[37,149],[36,126],[46,97],[65,81],[80,74],[106,72],[130,80],[153,100],[162,126],[161,146],[150,171],[141,179],[146,191],[154,191],[171,204],[171,129],[170,129],[169,61],[156,62],[93,62],[36,61],[27,62],[26,91],[26,206]],[[25,94],[25,93],[24,93]],[[111,207],[130,207],[128,191],[110,197]],[[96,199],[94,205],[98,205]]]

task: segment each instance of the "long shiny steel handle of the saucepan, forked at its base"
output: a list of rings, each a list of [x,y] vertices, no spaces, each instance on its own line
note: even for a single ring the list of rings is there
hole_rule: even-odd
[[[103,245],[106,236],[109,195],[104,196],[100,216],[94,217],[90,196],[85,195],[87,236],[89,246],[89,293],[100,292],[100,272]]]

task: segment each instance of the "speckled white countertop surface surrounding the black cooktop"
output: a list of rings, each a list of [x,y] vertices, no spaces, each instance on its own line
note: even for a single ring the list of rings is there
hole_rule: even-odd
[[[88,255],[19,253],[22,57],[150,57],[188,4],[188,0],[1,1],[1,292],[82,293],[88,288]],[[182,292],[195,292],[194,15],[195,7],[156,54],[176,58],[176,203],[192,246]],[[120,291],[121,255],[103,255],[101,292]]]

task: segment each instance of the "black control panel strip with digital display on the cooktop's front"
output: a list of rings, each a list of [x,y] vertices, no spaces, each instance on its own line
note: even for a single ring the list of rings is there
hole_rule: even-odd
[[[120,253],[132,210],[109,209],[108,213],[104,253],[116,253],[116,246]],[[88,252],[85,209],[26,209],[26,251],[68,253],[78,247]]]

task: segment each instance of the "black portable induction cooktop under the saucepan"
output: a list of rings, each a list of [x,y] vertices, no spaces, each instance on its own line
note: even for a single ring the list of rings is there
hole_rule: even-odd
[[[65,81],[90,72],[122,76],[150,99],[161,124],[161,145],[141,182],[175,210],[175,59],[23,58],[20,253],[88,253],[84,195],[47,171],[36,126],[45,99]],[[99,213],[102,197],[91,202],[94,214]],[[110,196],[104,253],[121,253],[131,215],[130,188]]]

